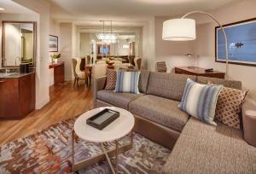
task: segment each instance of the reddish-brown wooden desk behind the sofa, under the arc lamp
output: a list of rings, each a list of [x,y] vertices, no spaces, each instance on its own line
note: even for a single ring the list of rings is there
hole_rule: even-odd
[[[202,67],[175,67],[175,73],[183,73],[195,76],[204,76],[210,78],[225,78],[225,73],[212,71],[205,72],[205,68]]]

